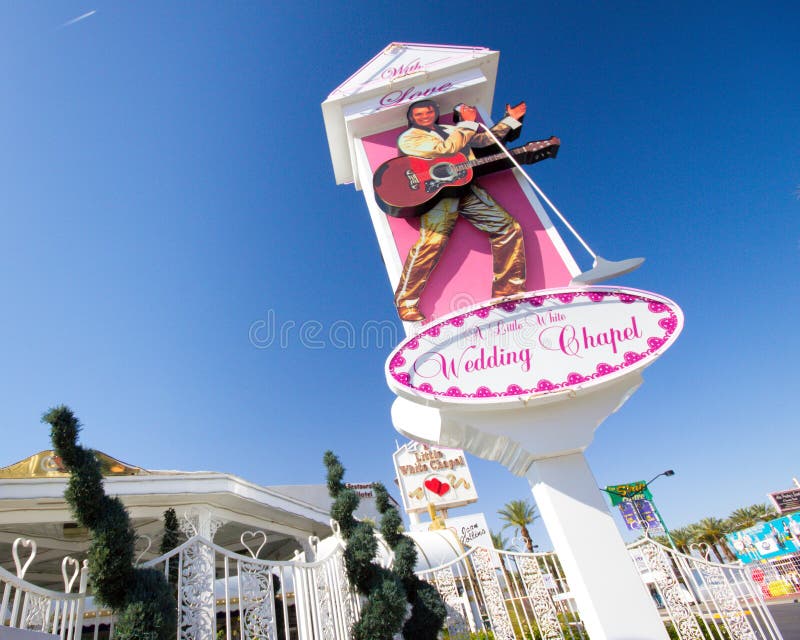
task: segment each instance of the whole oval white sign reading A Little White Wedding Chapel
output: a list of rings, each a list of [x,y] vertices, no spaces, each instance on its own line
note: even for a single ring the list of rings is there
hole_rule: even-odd
[[[426,326],[392,352],[386,378],[395,393],[417,402],[518,402],[642,369],[682,328],[678,305],[647,291],[537,291]]]

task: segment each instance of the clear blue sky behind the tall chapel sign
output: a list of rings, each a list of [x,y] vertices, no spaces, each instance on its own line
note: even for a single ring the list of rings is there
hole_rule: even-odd
[[[39,417],[66,403],[85,444],[146,468],[315,483],[331,448],[349,480],[390,484],[393,345],[331,331],[394,319],[391,291],[319,105],[388,43],[430,42],[501,51],[498,108],[524,98],[526,135],[562,139],[537,182],[595,251],[647,258],[615,284],[686,314],[598,430],[598,483],[675,469],[653,486],[670,526],[766,501],[800,476],[798,18],[792,2],[0,4],[0,465],[48,448]],[[321,323],[323,347],[257,348],[271,318]],[[471,465],[496,526],[527,484]]]

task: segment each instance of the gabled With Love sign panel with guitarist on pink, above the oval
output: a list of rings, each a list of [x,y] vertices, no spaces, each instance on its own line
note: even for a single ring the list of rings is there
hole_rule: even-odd
[[[336,181],[364,192],[406,322],[580,273],[505,156],[509,145],[520,164],[549,162],[560,140],[523,96],[492,120],[498,61],[483,47],[393,42],[322,104]],[[514,146],[523,120],[530,142]]]

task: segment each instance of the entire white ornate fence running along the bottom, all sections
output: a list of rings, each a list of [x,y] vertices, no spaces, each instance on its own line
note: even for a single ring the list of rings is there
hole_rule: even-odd
[[[313,559],[297,554],[291,561],[275,561],[258,557],[266,542],[263,533],[246,535],[247,555],[194,535],[143,565],[163,571],[174,586],[177,640],[350,640],[359,600],[347,581],[341,538],[312,540]],[[249,543],[259,536],[263,543],[255,549]],[[24,560],[20,547],[30,549]],[[751,567],[681,554],[649,539],[629,549],[671,638],[781,640],[765,605],[763,581],[754,580]],[[87,638],[113,638],[108,612],[84,615],[85,563],[81,568],[76,560],[64,559],[60,593],[24,580],[35,555],[34,542],[18,539],[16,575],[0,568],[0,623],[61,640],[81,640],[82,627]],[[386,549],[382,560],[391,560]],[[553,553],[475,547],[419,575],[442,595],[448,614],[442,633],[450,640],[588,640]],[[609,582],[613,579],[609,576]]]

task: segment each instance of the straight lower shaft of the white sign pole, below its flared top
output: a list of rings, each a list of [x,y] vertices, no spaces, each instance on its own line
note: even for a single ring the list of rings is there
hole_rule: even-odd
[[[653,604],[582,453],[525,474],[592,640],[666,640]]]

